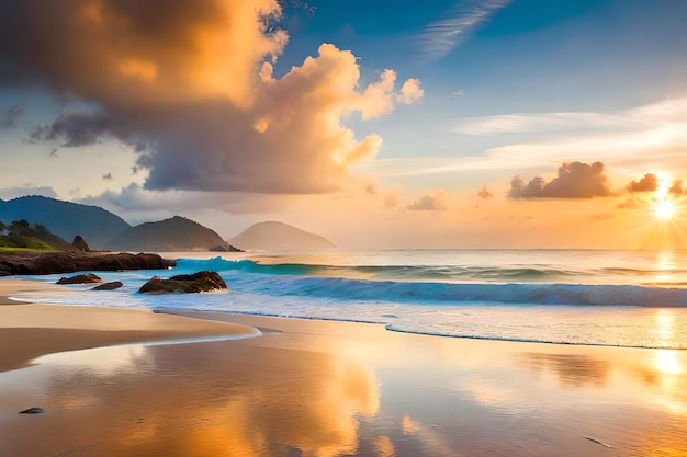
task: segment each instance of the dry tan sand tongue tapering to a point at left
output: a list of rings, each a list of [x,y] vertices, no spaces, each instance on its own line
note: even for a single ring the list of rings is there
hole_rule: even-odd
[[[246,338],[258,330],[230,322],[191,319],[150,310],[42,305],[12,300],[21,292],[53,293],[59,286],[26,279],[0,281],[0,373],[42,355],[115,344],[182,339]]]

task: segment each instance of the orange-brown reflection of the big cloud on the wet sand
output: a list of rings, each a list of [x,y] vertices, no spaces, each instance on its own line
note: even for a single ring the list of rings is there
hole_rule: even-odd
[[[52,414],[21,431],[25,435],[21,424],[9,423],[25,436],[11,443],[11,455],[27,448],[52,455],[88,441],[120,456],[288,455],[293,448],[329,457],[354,453],[356,418],[379,409],[372,373],[324,353],[232,351],[226,342],[88,352],[92,357],[80,366],[60,366],[55,357],[23,370],[45,379],[42,404]],[[99,356],[103,363],[91,364]],[[42,447],[34,439],[41,433],[56,437],[59,448]]]

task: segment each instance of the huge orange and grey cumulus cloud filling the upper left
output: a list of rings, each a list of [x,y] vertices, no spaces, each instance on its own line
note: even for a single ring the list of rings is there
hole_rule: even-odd
[[[289,39],[281,13],[275,0],[4,3],[0,87],[78,101],[32,139],[122,141],[149,190],[330,192],[382,145],[342,121],[387,114],[423,91],[393,70],[360,87],[356,56],[330,44],[275,77]]]

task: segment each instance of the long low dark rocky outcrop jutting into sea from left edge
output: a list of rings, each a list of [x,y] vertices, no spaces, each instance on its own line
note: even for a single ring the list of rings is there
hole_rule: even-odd
[[[0,252],[0,276],[82,271],[167,270],[174,265],[171,260],[149,253]]]

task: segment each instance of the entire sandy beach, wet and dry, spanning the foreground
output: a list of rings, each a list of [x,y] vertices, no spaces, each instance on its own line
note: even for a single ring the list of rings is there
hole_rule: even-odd
[[[45,305],[0,344],[3,457],[687,456],[685,351]]]

